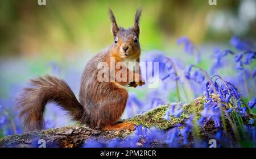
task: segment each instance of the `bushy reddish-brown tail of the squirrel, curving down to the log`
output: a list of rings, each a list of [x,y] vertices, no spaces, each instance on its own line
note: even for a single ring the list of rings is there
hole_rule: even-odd
[[[16,103],[20,109],[19,116],[23,119],[24,131],[43,129],[43,114],[48,102],[54,102],[67,110],[73,120],[80,121],[84,115],[84,107],[65,81],[53,76],[39,77],[31,80],[30,87],[23,89]]]

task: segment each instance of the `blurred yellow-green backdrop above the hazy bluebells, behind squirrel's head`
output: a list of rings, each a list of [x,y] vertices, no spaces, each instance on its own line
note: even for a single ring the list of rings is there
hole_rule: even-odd
[[[73,56],[97,53],[112,43],[108,7],[122,27],[131,27],[137,7],[141,19],[142,49],[169,50],[177,37],[196,44],[228,41],[231,36],[253,38],[256,31],[254,0],[142,0],[82,1],[2,0],[0,56]],[[57,57],[56,57],[57,58]]]

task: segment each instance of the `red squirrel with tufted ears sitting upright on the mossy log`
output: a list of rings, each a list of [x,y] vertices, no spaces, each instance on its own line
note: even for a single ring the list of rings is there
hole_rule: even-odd
[[[112,22],[113,43],[89,60],[82,73],[79,101],[67,83],[57,77],[44,76],[30,81],[30,87],[25,87],[19,95],[16,105],[20,109],[24,131],[34,131],[44,128],[44,111],[48,102],[68,111],[73,120],[90,128],[103,130],[121,130],[135,128],[135,124],[124,122],[117,124],[126,107],[128,98],[127,86],[144,85],[141,74],[127,67],[127,72],[133,74],[133,81],[99,82],[97,74],[99,62],[110,65],[110,58],[115,62],[140,60],[139,20],[141,9],[135,14],[134,25],[124,29],[117,26],[115,16],[109,9]],[[119,69],[115,69],[117,72]],[[109,75],[110,76],[110,75]],[[138,77],[137,81],[135,77]]]

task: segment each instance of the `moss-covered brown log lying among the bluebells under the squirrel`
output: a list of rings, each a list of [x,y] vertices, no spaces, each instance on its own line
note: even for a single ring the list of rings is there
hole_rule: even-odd
[[[192,103],[184,104],[182,107],[184,112],[180,115],[180,118],[171,116],[171,121],[163,119],[163,116],[170,105],[162,105],[146,111],[143,114],[136,115],[133,118],[121,120],[120,122],[129,121],[137,125],[141,124],[150,129],[162,129],[163,131],[167,131],[176,124],[184,124],[185,119],[188,119],[192,113],[200,115],[200,112],[203,110],[203,102],[204,97],[199,97]],[[208,138],[208,132],[214,133],[214,131],[217,131],[216,128],[214,128],[214,124],[209,122],[208,127],[202,128],[201,135],[204,138]],[[102,131],[79,125],[71,125],[63,128],[44,129],[42,131],[23,133],[22,135],[6,136],[0,139],[0,147],[39,147],[39,145],[42,144],[40,143],[42,141],[40,139],[43,139],[43,141],[46,142],[46,147],[73,148],[82,147],[90,137],[93,137],[96,140],[104,139],[105,141],[108,141],[115,137],[126,139],[126,137],[132,135],[134,135],[134,132],[132,131]],[[154,145],[166,147],[163,143],[157,143],[158,141],[154,142]],[[143,143],[139,143],[138,145],[141,146]]]

